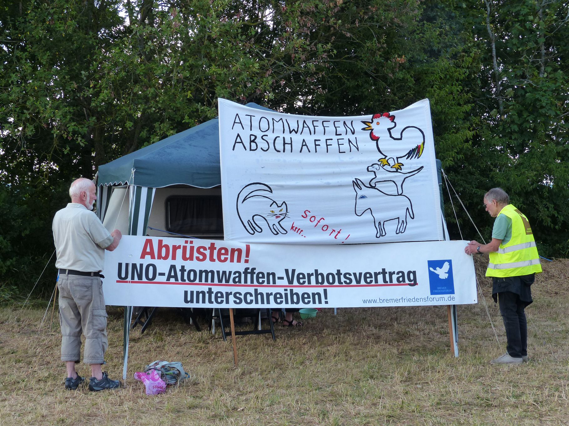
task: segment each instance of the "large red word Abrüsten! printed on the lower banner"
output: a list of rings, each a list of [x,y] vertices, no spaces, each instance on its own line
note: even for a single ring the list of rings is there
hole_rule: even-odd
[[[164,244],[163,240],[158,240],[158,247],[155,248],[154,240],[147,238],[142,247],[141,259],[248,264],[250,251],[249,244],[245,244],[244,253],[240,247],[217,247],[216,243],[194,245],[193,240],[185,240],[184,244]]]

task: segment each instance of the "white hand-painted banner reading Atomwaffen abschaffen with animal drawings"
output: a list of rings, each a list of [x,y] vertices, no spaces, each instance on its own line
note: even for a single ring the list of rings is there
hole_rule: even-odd
[[[428,99],[352,117],[218,101],[226,240],[444,239]]]

